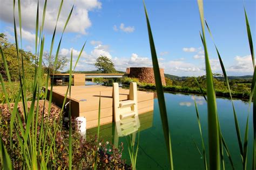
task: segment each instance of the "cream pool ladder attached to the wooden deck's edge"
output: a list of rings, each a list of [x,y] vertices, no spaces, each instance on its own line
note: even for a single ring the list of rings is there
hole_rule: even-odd
[[[119,100],[118,83],[113,83],[113,108],[114,121],[119,122],[128,117],[138,116],[138,93],[137,83],[130,83],[130,91],[128,100]]]

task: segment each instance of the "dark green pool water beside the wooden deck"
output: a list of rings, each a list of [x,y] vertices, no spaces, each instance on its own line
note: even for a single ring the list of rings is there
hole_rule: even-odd
[[[195,96],[198,104],[201,128],[208,154],[207,104],[201,96]],[[194,107],[193,95],[165,93],[168,112],[169,128],[171,132],[173,164],[175,169],[204,169],[204,162],[195,144],[201,149],[201,140]],[[234,100],[240,125],[241,137],[244,139],[245,124],[248,113],[248,103]],[[218,115],[221,131],[230,150],[236,169],[242,169],[239,146],[235,133],[234,117],[231,101],[217,98]],[[250,126],[248,136],[248,169],[252,164],[252,108],[250,109]],[[152,115],[153,114],[153,115]],[[137,169],[169,169],[163,129],[159,114],[157,99],[154,100],[153,113],[140,116],[141,128]],[[100,127],[100,138],[114,143],[115,124]],[[87,130],[87,136],[95,133],[95,129]],[[136,141],[138,136],[136,137]],[[130,164],[125,137],[119,137],[119,144],[124,143],[123,158]],[[231,169],[230,162],[225,154],[225,168]]]

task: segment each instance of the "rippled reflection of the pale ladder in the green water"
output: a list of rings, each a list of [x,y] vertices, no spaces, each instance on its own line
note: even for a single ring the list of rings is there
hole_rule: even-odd
[[[140,122],[138,116],[124,118],[121,121],[116,122],[116,128],[114,132],[114,146],[118,146],[119,137],[124,137],[129,134],[132,134],[132,142],[134,143],[139,127]]]

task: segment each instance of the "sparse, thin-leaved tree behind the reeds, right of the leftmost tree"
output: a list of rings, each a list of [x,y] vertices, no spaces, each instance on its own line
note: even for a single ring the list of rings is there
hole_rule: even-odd
[[[50,57],[49,53],[44,53],[43,55],[43,65],[44,65],[44,73],[48,73],[48,68],[50,68],[50,74],[53,73],[53,70],[58,73],[58,70],[62,70],[67,63],[69,62],[69,59],[66,58],[66,56],[58,56],[58,60],[56,63],[56,67],[54,68],[54,62],[55,62],[55,56],[52,55]]]

